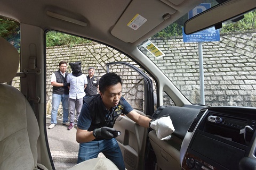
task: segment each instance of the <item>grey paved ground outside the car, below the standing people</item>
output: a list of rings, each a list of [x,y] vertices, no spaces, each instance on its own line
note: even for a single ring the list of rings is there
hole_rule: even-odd
[[[67,130],[68,126],[62,125],[60,116],[57,122],[53,129],[48,129],[51,115],[46,115],[47,136],[55,169],[65,170],[76,164],[79,143],[76,142],[76,126],[73,130]],[[104,155],[100,153],[99,157]]]

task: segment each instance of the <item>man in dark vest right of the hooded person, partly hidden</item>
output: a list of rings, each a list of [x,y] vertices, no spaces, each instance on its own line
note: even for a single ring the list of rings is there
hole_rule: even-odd
[[[93,97],[99,93],[99,78],[94,76],[94,67],[89,67],[87,75],[87,87],[85,88],[84,100],[89,97]]]

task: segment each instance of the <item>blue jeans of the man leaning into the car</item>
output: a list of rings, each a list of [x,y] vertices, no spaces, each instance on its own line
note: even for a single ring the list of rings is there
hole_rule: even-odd
[[[120,170],[125,170],[122,152],[115,138],[80,143],[77,164],[85,160],[97,158],[100,152],[106,158],[110,159]]]

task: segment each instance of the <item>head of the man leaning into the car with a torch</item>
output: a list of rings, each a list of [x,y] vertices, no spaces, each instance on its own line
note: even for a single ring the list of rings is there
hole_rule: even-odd
[[[116,73],[104,74],[99,81],[100,96],[107,109],[118,105],[122,96],[122,80]]]

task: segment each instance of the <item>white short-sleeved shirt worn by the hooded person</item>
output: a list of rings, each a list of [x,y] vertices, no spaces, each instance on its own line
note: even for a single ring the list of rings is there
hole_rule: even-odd
[[[85,96],[84,86],[87,84],[85,74],[75,77],[72,73],[67,76],[67,83],[70,83],[69,95],[71,99],[81,99]]]

